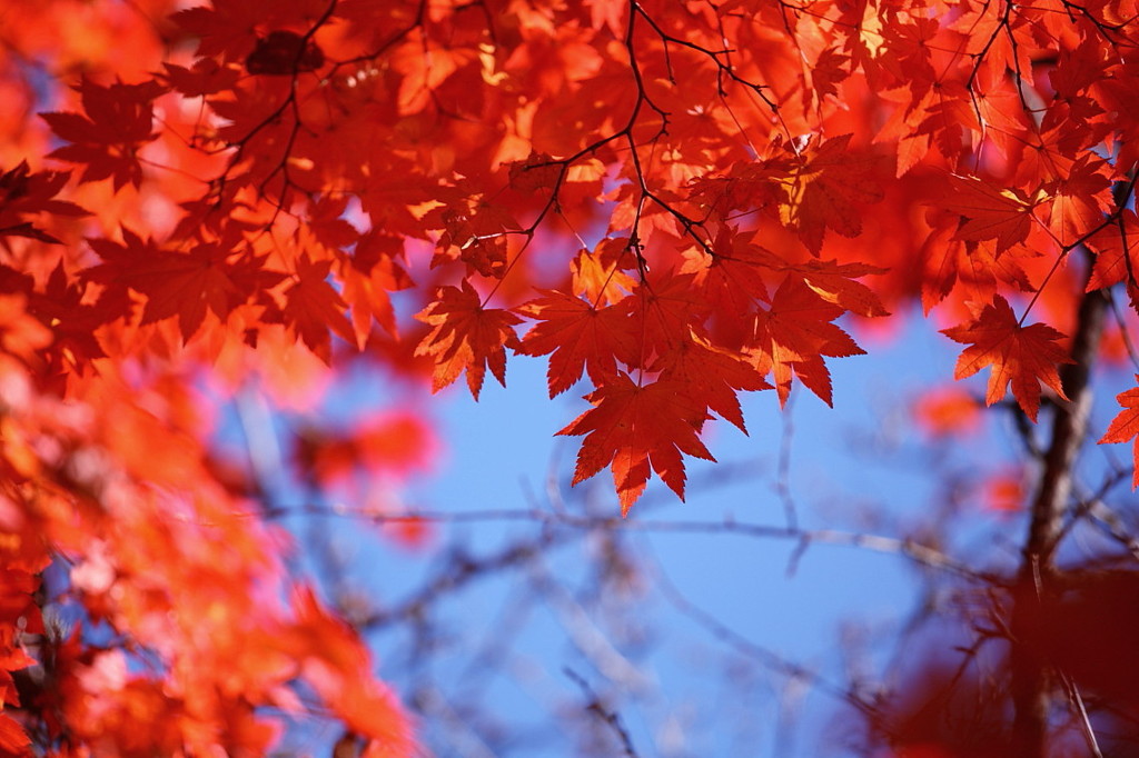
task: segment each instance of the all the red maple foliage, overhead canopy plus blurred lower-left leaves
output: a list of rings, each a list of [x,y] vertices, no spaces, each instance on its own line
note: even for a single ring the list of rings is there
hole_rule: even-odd
[[[301,692],[410,755],[362,643],[285,590],[285,538],[211,454],[205,371],[287,397],[360,355],[477,398],[536,356],[590,404],[550,430],[580,438],[574,483],[608,469],[624,514],[654,475],[683,496],[740,392],[830,404],[829,360],[863,353],[844,318],[919,302],[954,378],[1035,420],[1084,294],[1139,303],[1137,14],[6,3],[0,747],[263,752]],[[1139,455],[1139,387],[1118,402],[1100,442]],[[54,684],[24,694],[52,557],[132,646],[56,629]]]

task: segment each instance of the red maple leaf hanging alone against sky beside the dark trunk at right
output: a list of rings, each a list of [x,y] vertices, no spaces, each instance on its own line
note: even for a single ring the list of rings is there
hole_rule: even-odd
[[[1056,371],[1058,363],[1071,363],[1067,353],[1056,344],[1064,335],[1049,326],[1034,323],[1022,327],[1013,307],[1000,295],[993,297],[976,319],[942,333],[953,341],[970,345],[957,360],[954,379],[972,377],[986,365],[989,377],[985,404],[1002,399],[1013,382],[1013,395],[1025,414],[1036,420],[1040,410],[1040,382],[1048,385],[1060,398],[1067,399]]]

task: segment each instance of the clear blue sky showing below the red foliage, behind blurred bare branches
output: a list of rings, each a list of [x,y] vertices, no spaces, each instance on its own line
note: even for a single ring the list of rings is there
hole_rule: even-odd
[[[975,489],[947,516],[944,481],[931,468],[942,461],[939,470],[967,479],[1001,470],[1018,454],[1003,428],[1008,414],[986,414],[984,434],[965,445],[932,446],[912,402],[951,380],[959,346],[920,318],[906,324],[888,339],[860,336],[868,355],[828,361],[834,409],[796,387],[786,411],[772,392],[743,398],[751,436],[711,423],[705,442],[720,463],[688,461],[688,502],[654,481],[617,527],[621,554],[634,567],[628,586],[606,585],[598,595],[606,536],[570,529],[539,560],[433,595],[429,627],[370,632],[382,676],[427,711],[424,733],[437,755],[576,755],[583,730],[558,733],[566,723],[558,709],[577,703],[585,720],[571,723],[590,723],[582,683],[613,705],[641,756],[842,755],[837,701],[788,676],[779,660],[839,686],[852,670],[876,681],[923,601],[921,574],[888,552],[817,543],[798,553],[787,539],[697,527],[784,526],[786,461],[786,492],[805,529],[909,536],[945,517],[954,528],[940,535],[949,552],[1010,565],[1023,519],[986,511]],[[368,524],[322,520],[337,567],[334,594],[398,608],[451,566],[456,551],[478,561],[541,534],[540,522],[507,512],[620,513],[608,471],[568,487],[579,439],[552,435],[588,407],[588,387],[550,401],[544,371],[543,360],[513,357],[508,388],[487,381],[477,403],[461,381],[427,398],[368,372],[330,395],[322,420],[409,402],[431,414],[442,454],[405,486],[404,501],[486,516],[439,525],[418,552]],[[985,373],[964,385],[982,395]],[[1098,397],[1104,423],[1125,382],[1114,384]],[[663,530],[677,522],[687,527]],[[303,519],[293,525],[313,534]],[[431,654],[416,652],[424,629],[441,635]],[[515,736],[489,744],[481,735],[494,725]]]

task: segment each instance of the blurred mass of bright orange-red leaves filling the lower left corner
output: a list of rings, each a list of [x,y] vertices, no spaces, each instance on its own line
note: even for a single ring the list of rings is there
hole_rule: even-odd
[[[280,726],[263,709],[304,712],[303,683],[377,750],[410,750],[401,707],[368,677],[359,637],[289,587],[285,535],[222,486],[182,382],[131,386],[108,365],[100,395],[79,406],[38,394],[11,355],[0,377],[0,644],[21,677],[0,683],[6,706],[39,715],[25,722],[38,744],[261,755]],[[69,562],[67,595],[85,609],[71,629],[46,627],[35,601],[49,592],[52,555]],[[83,624],[130,644],[92,644]],[[22,752],[27,735],[7,715],[3,728],[8,751]]]

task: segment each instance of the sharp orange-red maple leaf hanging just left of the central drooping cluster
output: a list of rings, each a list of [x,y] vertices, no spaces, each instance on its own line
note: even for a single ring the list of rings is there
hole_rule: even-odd
[[[439,392],[466,370],[467,387],[475,399],[486,368],[506,387],[506,351],[518,347],[514,324],[522,320],[501,308],[484,308],[478,293],[466,279],[462,289],[441,287],[436,299],[416,314],[434,329],[416,348],[416,355],[435,359],[432,392]]]

